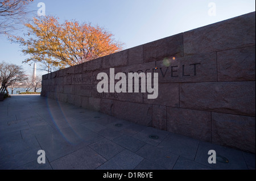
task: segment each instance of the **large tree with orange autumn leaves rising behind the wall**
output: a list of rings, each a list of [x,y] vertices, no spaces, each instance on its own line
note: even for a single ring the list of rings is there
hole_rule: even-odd
[[[45,65],[66,68],[94,58],[122,50],[112,33],[99,26],[43,16],[25,25],[28,32],[23,37],[9,36],[22,45],[22,52],[30,54],[24,62],[43,62]],[[49,68],[48,66],[48,68]]]

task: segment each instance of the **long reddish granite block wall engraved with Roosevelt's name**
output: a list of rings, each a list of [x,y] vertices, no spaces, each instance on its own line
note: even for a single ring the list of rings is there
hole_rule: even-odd
[[[158,72],[159,95],[98,93],[97,74]],[[43,75],[42,96],[255,153],[255,12]]]

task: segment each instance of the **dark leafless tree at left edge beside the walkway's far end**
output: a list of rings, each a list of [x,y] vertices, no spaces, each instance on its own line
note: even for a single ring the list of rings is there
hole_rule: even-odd
[[[27,75],[21,66],[14,64],[7,64],[6,62],[0,63],[0,93],[9,94],[7,87],[15,83],[22,83],[27,80]]]

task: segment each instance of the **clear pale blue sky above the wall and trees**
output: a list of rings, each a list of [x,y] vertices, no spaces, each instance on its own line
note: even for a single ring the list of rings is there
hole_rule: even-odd
[[[255,0],[35,0],[29,9],[37,11],[39,2],[60,22],[76,19],[105,27],[125,49],[255,11]],[[208,14],[210,2],[215,16]],[[27,57],[0,35],[0,61],[22,65],[29,74],[32,66],[22,64]]]

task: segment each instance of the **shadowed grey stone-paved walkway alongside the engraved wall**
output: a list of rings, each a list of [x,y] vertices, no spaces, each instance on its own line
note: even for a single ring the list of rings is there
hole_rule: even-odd
[[[38,163],[38,150],[45,151],[45,164]],[[209,150],[229,163],[217,157],[209,164]],[[255,169],[255,154],[40,95],[12,95],[0,102],[0,169]]]

